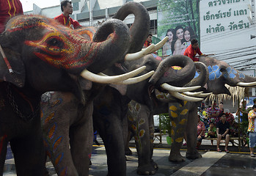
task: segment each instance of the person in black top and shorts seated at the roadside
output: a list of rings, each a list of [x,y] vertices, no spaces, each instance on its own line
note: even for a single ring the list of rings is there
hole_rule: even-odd
[[[225,139],[225,152],[229,153],[227,150],[228,143],[230,142],[230,124],[226,120],[226,114],[221,114],[221,121],[219,121],[216,125],[216,133],[217,133],[217,151],[221,152],[219,149],[219,144],[222,139]]]

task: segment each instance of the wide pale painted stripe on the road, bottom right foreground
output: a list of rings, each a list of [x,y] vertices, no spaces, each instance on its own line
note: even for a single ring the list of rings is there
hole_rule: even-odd
[[[178,175],[202,175],[207,169],[209,169],[213,164],[219,161],[226,153],[208,152],[202,155],[202,158],[198,158],[183,166],[177,172],[173,173],[172,176]]]

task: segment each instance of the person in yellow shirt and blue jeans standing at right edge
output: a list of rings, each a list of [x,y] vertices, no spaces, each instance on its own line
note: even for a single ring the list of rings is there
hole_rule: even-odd
[[[256,118],[256,105],[252,106],[252,110],[248,113],[248,132],[249,132],[249,149],[250,156],[255,157],[254,147],[256,143],[256,131],[255,131],[255,118]]]

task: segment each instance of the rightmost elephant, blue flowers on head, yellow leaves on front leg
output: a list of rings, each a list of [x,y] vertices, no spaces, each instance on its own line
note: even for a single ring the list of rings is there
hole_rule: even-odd
[[[200,62],[208,67],[208,81],[204,92],[213,92],[213,94],[227,94],[230,91],[224,84],[231,87],[254,86],[256,78],[246,76],[244,73],[235,70],[226,62],[219,61],[213,57],[200,57]],[[197,83],[192,84],[198,85]],[[191,86],[191,85],[190,85]],[[180,147],[183,141],[183,134],[186,131],[187,136],[187,153],[186,158],[200,158],[197,152],[197,104],[193,102],[184,102],[185,106],[179,106],[178,103],[169,104],[169,116],[172,118],[172,147],[169,155],[169,161],[184,161],[180,155]],[[186,112],[186,113],[185,113]],[[186,130],[185,130],[186,129]]]

